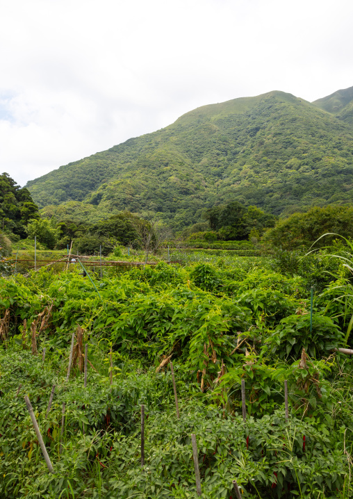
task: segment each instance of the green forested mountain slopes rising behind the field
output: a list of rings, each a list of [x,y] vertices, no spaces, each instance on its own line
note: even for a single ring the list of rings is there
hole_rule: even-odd
[[[350,203],[348,90],[312,104],[274,91],[203,106],[27,188],[47,215],[95,221],[124,209],[151,211],[174,229],[231,200],[274,214]]]

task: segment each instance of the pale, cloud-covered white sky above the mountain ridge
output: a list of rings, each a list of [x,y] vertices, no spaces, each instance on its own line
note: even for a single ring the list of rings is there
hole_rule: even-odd
[[[353,85],[352,0],[0,0],[0,173],[20,186],[192,109]]]

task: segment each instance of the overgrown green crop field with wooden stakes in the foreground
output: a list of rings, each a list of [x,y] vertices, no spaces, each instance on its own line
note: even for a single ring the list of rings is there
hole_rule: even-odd
[[[192,434],[203,498],[236,499],[233,480],[244,498],[352,497],[353,364],[334,351],[350,272],[324,254],[171,259],[95,286],[79,265],[0,278],[0,498],[197,498]]]

